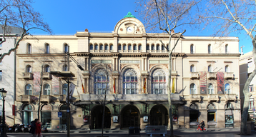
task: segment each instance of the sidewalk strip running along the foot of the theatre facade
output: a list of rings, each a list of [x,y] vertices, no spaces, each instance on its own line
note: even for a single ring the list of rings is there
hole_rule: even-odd
[[[169,130],[167,130],[169,131]],[[240,131],[240,128],[208,128],[207,132],[223,132],[223,131]],[[60,132],[64,133],[67,131],[58,131],[58,130],[49,130],[49,132]],[[104,133],[128,133],[128,129],[104,129]],[[180,128],[180,129],[174,129],[174,132],[195,132],[195,128]],[[70,133],[102,133],[101,129],[72,129],[70,130]],[[142,129],[141,133],[145,133],[145,130]]]

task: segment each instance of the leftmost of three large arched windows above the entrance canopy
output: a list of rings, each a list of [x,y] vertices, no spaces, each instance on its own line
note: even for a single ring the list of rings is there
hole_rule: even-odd
[[[94,93],[104,94],[106,90],[109,90],[109,78],[107,77],[106,70],[100,68],[94,75]]]

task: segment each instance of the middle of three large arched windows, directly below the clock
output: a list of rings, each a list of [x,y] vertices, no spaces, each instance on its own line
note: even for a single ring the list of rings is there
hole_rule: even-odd
[[[124,94],[137,94],[138,79],[134,69],[129,68],[124,72],[123,88]]]

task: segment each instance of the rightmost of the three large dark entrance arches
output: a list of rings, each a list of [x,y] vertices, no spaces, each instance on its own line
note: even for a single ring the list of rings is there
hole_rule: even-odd
[[[151,126],[168,126],[168,111],[162,105],[153,106],[150,111]]]

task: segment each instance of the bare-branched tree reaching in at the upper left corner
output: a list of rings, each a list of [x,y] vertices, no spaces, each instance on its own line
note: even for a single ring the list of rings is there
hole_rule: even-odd
[[[3,41],[6,42],[5,36],[10,34],[14,27],[21,30],[19,39],[17,39],[14,48],[7,50],[0,56],[0,62],[4,56],[11,54],[18,48],[19,42],[24,39],[24,36],[29,35],[32,29],[40,29],[51,33],[49,25],[45,23],[39,12],[34,11],[31,6],[32,0],[0,0],[0,26],[3,33]]]

